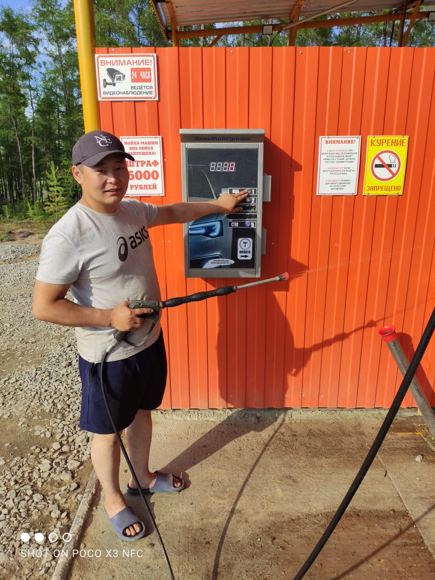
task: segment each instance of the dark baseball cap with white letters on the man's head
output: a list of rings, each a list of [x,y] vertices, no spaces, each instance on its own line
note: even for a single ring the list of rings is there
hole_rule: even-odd
[[[87,165],[93,167],[111,153],[121,153],[127,159],[134,161],[129,153],[125,152],[118,137],[107,131],[90,131],[82,135],[72,148],[72,165]]]

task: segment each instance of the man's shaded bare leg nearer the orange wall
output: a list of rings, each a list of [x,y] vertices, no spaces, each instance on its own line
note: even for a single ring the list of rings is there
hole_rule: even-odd
[[[134,473],[136,473],[142,489],[151,489],[157,478],[155,473],[149,471],[149,449],[151,448],[152,438],[151,411],[139,409],[133,423],[126,429],[126,438]],[[129,485],[132,489],[137,489],[133,477],[130,477]],[[173,486],[181,486],[177,478],[173,478]]]

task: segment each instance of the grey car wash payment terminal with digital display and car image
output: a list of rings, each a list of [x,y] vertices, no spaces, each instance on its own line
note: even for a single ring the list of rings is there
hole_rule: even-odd
[[[259,277],[264,129],[180,129],[183,201],[244,189],[242,210],[184,226],[186,277]]]

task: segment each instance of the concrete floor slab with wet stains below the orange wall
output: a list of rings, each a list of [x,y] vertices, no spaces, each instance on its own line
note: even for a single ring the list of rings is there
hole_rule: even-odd
[[[156,494],[149,501],[174,578],[294,578],[358,473],[385,414],[155,412],[151,466],[182,471],[187,481],[180,494]],[[123,463],[122,485],[128,478]],[[305,577],[433,580],[434,482],[433,439],[421,416],[400,411]],[[170,578],[140,498],[127,498],[148,527],[137,542],[123,542],[111,530],[98,485],[94,491],[89,485],[86,498],[53,580]],[[82,552],[73,554],[73,545]]]

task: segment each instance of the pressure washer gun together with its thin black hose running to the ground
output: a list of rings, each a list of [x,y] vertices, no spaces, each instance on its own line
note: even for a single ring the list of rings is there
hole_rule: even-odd
[[[169,300],[165,300],[163,302],[156,302],[155,300],[133,300],[129,304],[129,308],[130,309],[151,308],[153,310],[152,313],[142,315],[143,318],[150,318],[153,322],[153,324],[151,325],[151,328],[147,332],[147,335],[145,336],[145,338],[141,342],[141,345],[144,345],[146,340],[148,339],[149,335],[151,334],[153,327],[155,326],[155,324],[159,320],[159,310],[162,308],[180,306],[181,304],[186,304],[188,302],[199,302],[199,300],[205,300],[207,298],[211,298],[212,296],[224,296],[226,294],[236,292],[237,289],[240,289],[240,288],[248,288],[251,286],[257,286],[259,284],[266,284],[267,282],[288,280],[289,278],[290,278],[290,276],[288,276],[288,273],[284,272],[284,274],[280,274],[280,276],[276,276],[275,278],[268,278],[268,280],[259,280],[257,282],[251,282],[250,284],[242,284],[239,286],[224,286],[224,287],[216,288],[215,290],[209,290],[206,292],[196,292],[195,294],[191,294],[189,296],[179,296],[177,298],[170,298]],[[167,565],[167,568],[169,571],[169,577],[171,578],[171,580],[175,580],[174,573],[172,571],[171,564],[169,561],[169,557],[168,557],[167,552],[166,552],[165,544],[163,543],[162,536],[160,535],[160,532],[159,532],[159,528],[157,527],[156,521],[155,521],[155,519],[152,515],[152,512],[151,512],[151,509],[149,508],[147,499],[145,499],[144,492],[142,492],[141,484],[139,483],[137,475],[136,475],[136,473],[134,473],[133,465],[131,465],[130,458],[127,454],[125,445],[123,444],[122,439],[119,435],[118,427],[116,427],[116,425],[115,425],[115,421],[114,421],[114,418],[113,418],[113,415],[112,415],[112,412],[110,410],[109,403],[107,400],[107,390],[106,390],[106,386],[105,386],[105,382],[104,382],[104,371],[105,371],[106,359],[107,359],[108,355],[112,352],[112,350],[115,348],[115,346],[118,345],[118,343],[121,342],[122,340],[125,340],[129,344],[132,344],[129,342],[129,340],[127,340],[128,335],[129,335],[129,332],[115,331],[111,343],[109,344],[109,346],[105,350],[103,358],[101,359],[101,369],[100,369],[101,392],[103,393],[104,404],[105,404],[105,407],[107,409],[107,414],[109,416],[109,419],[110,419],[110,422],[112,425],[112,429],[114,430],[115,435],[116,435],[116,439],[118,440],[119,447],[120,447],[122,454],[125,458],[127,466],[129,467],[131,476],[133,477],[133,481],[136,484],[137,490],[138,490],[142,500],[144,501],[145,506],[147,506],[147,511],[148,511],[149,517],[151,519],[152,527],[153,527],[154,531],[156,532],[156,536],[158,538],[160,548],[162,548],[163,557],[165,559],[165,562],[166,562],[166,565]]]

